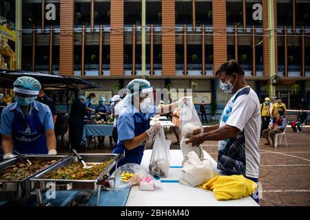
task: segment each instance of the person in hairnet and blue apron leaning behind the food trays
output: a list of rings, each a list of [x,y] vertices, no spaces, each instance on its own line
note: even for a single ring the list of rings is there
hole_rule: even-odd
[[[56,155],[56,137],[50,108],[37,102],[41,84],[21,76],[14,82],[15,102],[5,107],[1,117],[3,159],[23,154]]]

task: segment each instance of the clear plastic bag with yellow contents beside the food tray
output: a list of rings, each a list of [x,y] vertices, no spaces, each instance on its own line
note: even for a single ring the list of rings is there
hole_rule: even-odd
[[[123,181],[121,174],[123,172],[134,173],[134,176],[128,179],[128,181]],[[116,177],[115,177],[116,175]],[[131,187],[134,185],[138,185],[140,183],[140,179],[145,177],[147,172],[141,168],[140,165],[134,163],[124,164],[123,166],[118,167],[115,172],[111,175],[110,186],[114,186],[114,177],[115,179],[115,186],[114,188],[110,188],[110,190],[123,190],[124,188]]]

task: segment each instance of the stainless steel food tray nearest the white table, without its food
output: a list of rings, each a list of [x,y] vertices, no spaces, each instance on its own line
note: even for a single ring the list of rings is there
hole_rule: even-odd
[[[74,162],[79,162],[76,156],[71,156],[63,159],[60,163],[45,169],[43,172],[32,176],[30,184],[32,188],[39,190],[96,190],[99,188],[101,183],[110,177],[110,170],[116,166],[116,162],[121,158],[121,155],[112,153],[81,153],[80,154],[86,163],[100,163],[105,162],[111,157],[112,162],[105,167],[99,177],[92,180],[81,180],[81,179],[45,179],[45,175],[48,172],[56,170],[56,168],[63,168],[69,166]]]

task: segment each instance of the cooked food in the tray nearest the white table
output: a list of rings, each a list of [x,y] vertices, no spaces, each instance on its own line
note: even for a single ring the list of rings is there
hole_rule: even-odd
[[[91,180],[96,179],[103,172],[103,170],[111,164],[113,158],[108,159],[100,164],[91,164],[92,167],[84,169],[83,164],[80,162],[74,162],[69,166],[62,168],[56,168],[56,170],[50,171],[45,175],[45,179],[83,179]],[[88,164],[87,164],[88,165]]]

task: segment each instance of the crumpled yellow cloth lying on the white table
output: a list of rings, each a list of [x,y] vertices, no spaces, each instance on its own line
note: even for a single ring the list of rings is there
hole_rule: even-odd
[[[213,190],[217,200],[227,200],[240,199],[252,195],[256,188],[258,188],[258,185],[242,175],[218,175],[198,187],[204,190]]]

